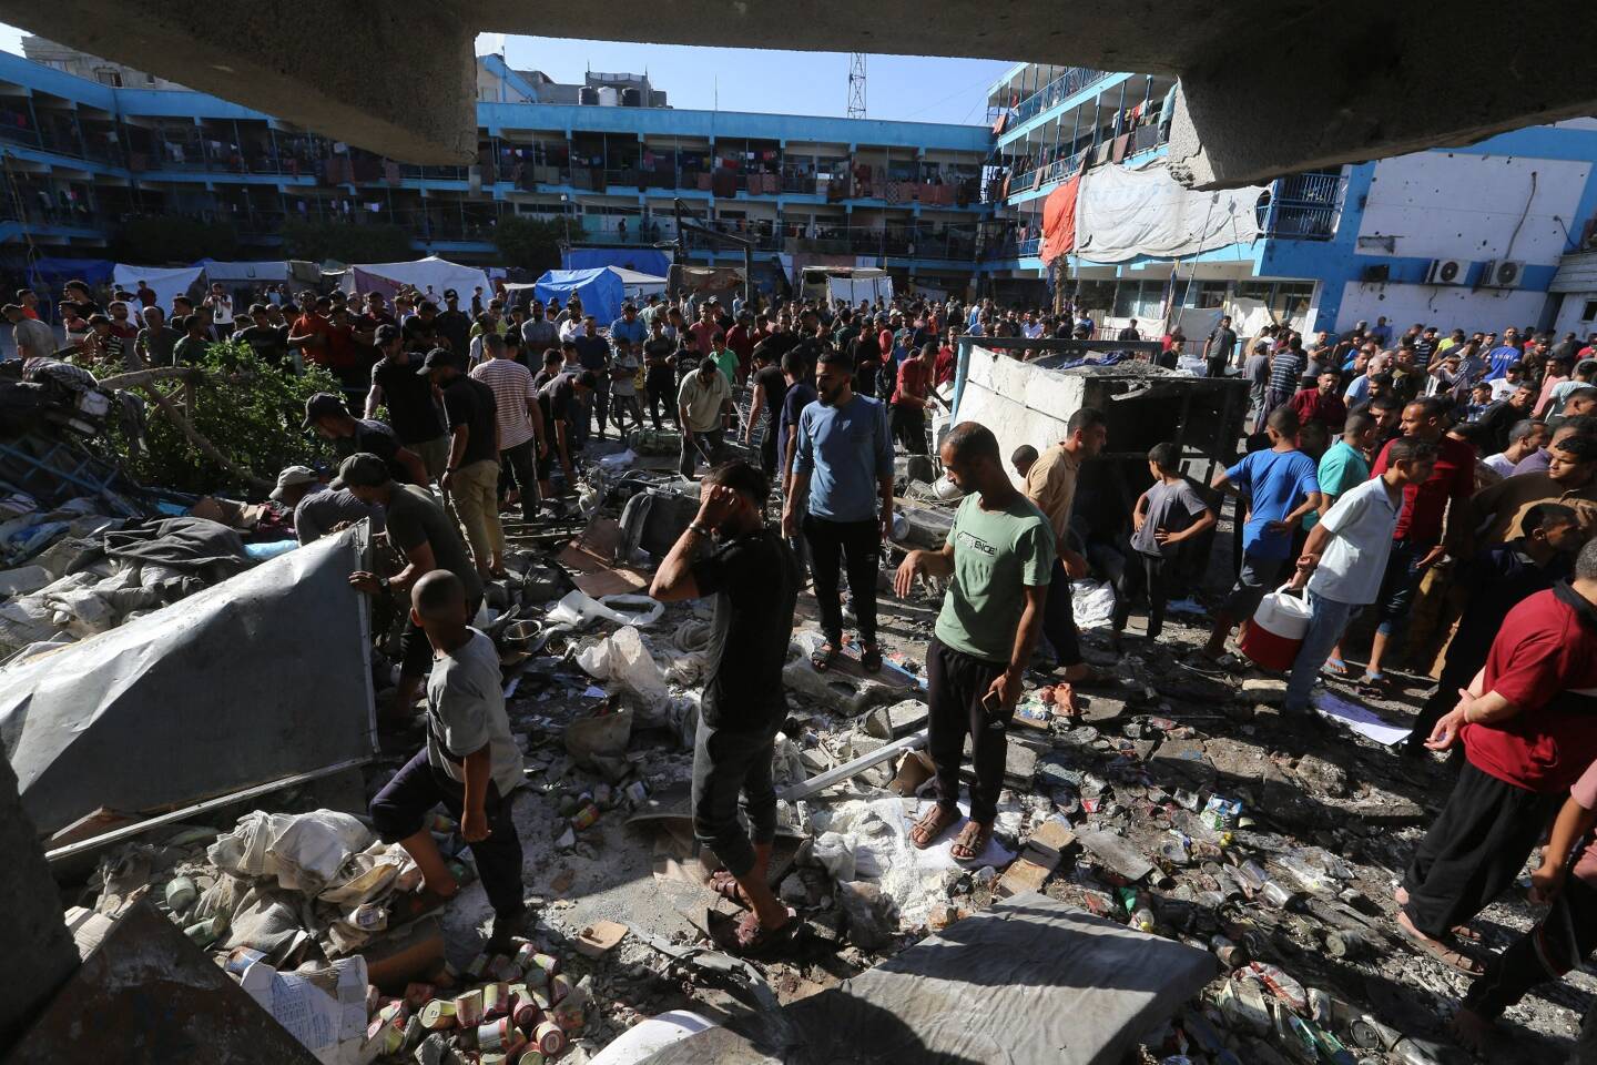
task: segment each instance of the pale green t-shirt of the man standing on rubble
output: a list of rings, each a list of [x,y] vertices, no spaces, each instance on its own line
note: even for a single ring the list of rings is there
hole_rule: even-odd
[[[953,575],[937,612],[937,639],[961,655],[1008,663],[1025,589],[1052,580],[1056,548],[1048,519],[1024,497],[987,511],[973,493],[960,501],[947,543],[953,546]]]

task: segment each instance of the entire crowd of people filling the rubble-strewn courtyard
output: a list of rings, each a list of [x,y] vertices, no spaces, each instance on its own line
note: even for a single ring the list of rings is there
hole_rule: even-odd
[[[492,647],[468,626],[485,583],[505,572],[498,514],[519,506],[535,521],[557,505],[578,482],[589,439],[669,426],[680,474],[703,471],[701,505],[652,594],[715,600],[695,830],[725,862],[715,889],[749,909],[738,929],[749,950],[779,945],[797,926],[765,873],[771,746],[800,588],[808,578],[819,613],[811,664],[827,671],[858,653],[862,669],[880,671],[878,573],[885,543],[901,538],[894,455],[931,450],[928,415],[947,406],[960,337],[1099,332],[1089,315],[992,300],[759,308],[741,297],[650,295],[599,323],[575,297],[562,305],[478,291],[468,313],[454,289],[436,300],[307,291],[297,311],[278,299],[238,313],[219,289],[198,302],[177,297],[171,313],[141,291],[102,310],[88,286],[70,283],[62,350],[30,295],[5,307],[24,358],[123,370],[198,361],[204,345],[233,335],[284,372],[319,364],[339,378],[342,391],[313,396],[303,422],[339,455],[337,481],[291,468],[273,500],[302,538],[342,521],[385,524],[402,567],[356,573],[351,584],[409,594],[394,712],[402,717],[425,688],[431,728],[372,814],[385,838],[417,856],[418,907],[457,889],[422,816],[438,802],[462,814],[506,928],[521,913],[519,843],[505,802],[517,774]],[[77,334],[73,323],[83,324]],[[1123,342],[1140,337],[1135,323],[1118,332]],[[1174,367],[1187,343],[1166,332],[1155,358]],[[1385,319],[1310,340],[1270,326],[1242,342],[1220,318],[1191,346],[1209,375],[1246,382],[1242,457],[1201,485],[1175,444],[1153,447],[1148,487],[1121,516],[1121,564],[1107,573],[1116,588],[1112,647],[1132,639],[1139,602],[1140,639],[1159,640],[1185,583],[1183,557],[1207,557],[1220,503],[1236,493],[1234,580],[1188,664],[1246,667],[1246,655],[1228,650],[1233,632],[1242,651],[1265,596],[1290,586],[1303,591],[1310,620],[1286,671],[1289,720],[1306,719],[1319,683],[1389,693],[1399,659],[1410,675],[1439,679],[1402,754],[1461,752],[1452,760],[1458,779],[1397,891],[1396,923],[1417,948],[1477,977],[1456,1020],[1472,1043],[1525,990],[1597,947],[1597,851],[1587,838],[1597,822],[1594,345],[1597,337],[1514,327],[1444,335],[1415,324],[1396,334]],[[1024,343],[1005,350],[1033,354]],[[1064,685],[1107,679],[1081,653],[1070,581],[1094,568],[1075,501],[1108,425],[1105,412],[1080,409],[1064,439],[1027,444],[1008,463],[995,434],[971,422],[937,442],[963,500],[944,546],[910,551],[893,578],[899,597],[926,578],[942,589],[925,661],[936,802],[912,829],[915,846],[958,829],[957,861],[987,849],[1033,651],[1044,648]],[[779,517],[767,522],[773,497]],[[1357,672],[1349,653],[1365,639]],[[968,816],[957,805],[966,739],[976,768]],[[752,837],[738,821],[739,794]],[[1484,961],[1468,923],[1514,883],[1549,825],[1533,894],[1551,901],[1547,921],[1560,934],[1544,921]]]

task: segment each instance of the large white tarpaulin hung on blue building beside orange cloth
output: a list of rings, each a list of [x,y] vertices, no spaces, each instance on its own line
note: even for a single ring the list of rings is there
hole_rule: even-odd
[[[1075,254],[1091,262],[1137,255],[1177,259],[1258,238],[1262,185],[1196,192],[1182,187],[1163,160],[1142,169],[1097,166],[1076,193]]]

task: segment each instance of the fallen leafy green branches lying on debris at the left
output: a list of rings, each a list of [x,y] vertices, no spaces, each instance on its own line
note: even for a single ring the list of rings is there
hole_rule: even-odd
[[[339,380],[318,366],[303,377],[265,362],[241,340],[206,348],[203,369],[209,380],[193,388],[187,412],[193,426],[230,461],[264,481],[284,466],[315,466],[332,460],[332,450],[313,433],[300,430],[305,401],[319,391],[339,391]],[[160,386],[160,385],[158,385]],[[164,382],[164,390],[171,388]],[[184,437],[155,404],[149,410],[145,449],[133,463],[134,476],[152,487],[180,492],[228,492],[243,485]]]

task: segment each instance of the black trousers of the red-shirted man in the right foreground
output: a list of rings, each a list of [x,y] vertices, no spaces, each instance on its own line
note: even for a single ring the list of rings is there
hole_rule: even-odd
[[[1487,909],[1514,883],[1563,797],[1516,787],[1466,758],[1404,873],[1413,926],[1436,939]]]

